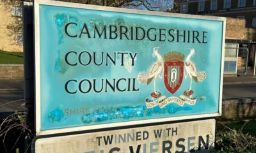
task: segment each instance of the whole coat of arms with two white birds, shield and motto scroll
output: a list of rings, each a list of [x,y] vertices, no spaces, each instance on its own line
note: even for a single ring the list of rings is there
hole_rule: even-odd
[[[157,61],[154,62],[148,73],[140,73],[138,75],[138,81],[141,84],[149,85],[151,82],[154,83],[154,92],[150,94],[152,98],[146,99],[147,108],[152,108],[155,106],[159,106],[160,108],[164,108],[164,106],[169,103],[177,103],[180,106],[184,106],[184,104],[195,105],[197,96],[193,95],[193,91],[191,89],[192,81],[202,82],[205,79],[205,71],[196,71],[195,62],[191,61],[191,57],[195,55],[195,50],[190,48],[190,53],[186,60],[184,61],[184,55],[180,52],[168,52],[164,55],[163,58],[158,52],[159,47],[154,48],[154,53],[157,57]],[[166,89],[174,94],[179,90],[180,85],[182,84],[183,77],[190,78],[190,87],[188,90],[184,91],[182,95],[179,97],[170,96],[166,98],[163,96],[161,92],[156,91],[156,79],[159,77],[162,78],[164,73],[164,85]]]

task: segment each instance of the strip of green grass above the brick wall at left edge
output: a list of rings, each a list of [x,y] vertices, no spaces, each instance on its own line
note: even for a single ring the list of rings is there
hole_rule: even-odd
[[[23,52],[4,52],[0,50],[0,64],[23,64]]]

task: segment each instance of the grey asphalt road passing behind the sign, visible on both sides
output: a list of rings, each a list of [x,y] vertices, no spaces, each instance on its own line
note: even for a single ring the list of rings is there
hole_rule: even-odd
[[[0,91],[0,113],[24,111],[23,91]],[[223,98],[256,97],[256,84],[223,85]],[[20,101],[17,101],[20,100]],[[10,101],[16,101],[10,103]]]

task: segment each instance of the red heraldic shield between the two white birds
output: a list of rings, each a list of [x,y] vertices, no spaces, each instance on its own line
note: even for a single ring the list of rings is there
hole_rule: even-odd
[[[164,62],[164,85],[174,94],[183,80],[184,62]]]

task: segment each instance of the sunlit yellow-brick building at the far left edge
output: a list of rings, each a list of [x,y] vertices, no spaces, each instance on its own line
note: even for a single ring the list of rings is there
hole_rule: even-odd
[[[15,18],[22,20],[22,9],[19,6],[5,6],[0,1],[0,50],[23,52],[22,31],[10,36],[10,25]]]

